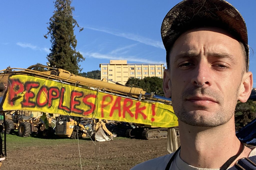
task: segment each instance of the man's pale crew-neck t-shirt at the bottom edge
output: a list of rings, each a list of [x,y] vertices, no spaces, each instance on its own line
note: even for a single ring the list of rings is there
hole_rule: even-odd
[[[256,147],[251,148],[253,149],[251,153],[249,154],[250,156],[255,156],[256,155]],[[169,160],[172,158],[174,153],[164,155],[149,161],[142,162],[136,166],[134,166],[131,170],[165,170],[166,165],[168,164]],[[219,170],[219,168],[197,168],[194,166],[191,166],[184,162],[180,158],[180,151],[177,153],[175,156],[175,159],[173,160],[173,163],[171,165],[171,170]]]

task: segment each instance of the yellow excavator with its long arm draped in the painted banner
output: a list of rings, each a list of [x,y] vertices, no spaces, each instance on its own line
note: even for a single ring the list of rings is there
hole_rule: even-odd
[[[35,67],[47,71],[36,71]],[[178,126],[168,98],[146,93],[141,88],[94,80],[38,64],[27,69],[8,67],[0,71],[0,113],[5,130],[3,144],[6,142],[4,115],[13,110],[90,117],[95,121],[93,128],[98,128],[98,131],[104,128],[102,120],[133,122],[145,126],[129,130],[127,135],[141,135],[146,139],[166,136],[167,128]],[[80,131],[88,130],[80,127]],[[105,132],[111,137],[111,133]],[[0,148],[4,157],[6,145],[0,146],[4,146]]]

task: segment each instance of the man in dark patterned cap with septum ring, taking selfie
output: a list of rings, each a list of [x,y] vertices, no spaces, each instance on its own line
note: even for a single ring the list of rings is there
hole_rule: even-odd
[[[253,84],[240,13],[223,0],[185,0],[167,13],[161,34],[168,67],[163,88],[172,97],[181,147],[132,170],[233,170],[247,161],[241,158],[256,162],[256,149],[239,141],[234,125],[237,100],[246,102]]]

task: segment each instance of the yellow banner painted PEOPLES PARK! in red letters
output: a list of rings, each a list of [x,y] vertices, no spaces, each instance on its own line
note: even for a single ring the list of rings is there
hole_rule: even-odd
[[[29,110],[147,124],[178,125],[173,107],[28,75],[12,75],[2,110]]]

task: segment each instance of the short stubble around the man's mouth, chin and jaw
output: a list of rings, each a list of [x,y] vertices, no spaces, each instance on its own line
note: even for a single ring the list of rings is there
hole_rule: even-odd
[[[239,89],[239,88],[238,88]],[[238,92],[238,89],[236,90]],[[238,93],[237,93],[238,94]],[[218,107],[213,110],[210,106],[196,106],[189,110],[184,104],[190,96],[209,96],[217,101]],[[185,89],[178,100],[172,99],[173,109],[179,121],[192,126],[215,127],[227,123],[234,114],[234,104],[237,102],[237,96],[230,101],[224,100],[224,95],[209,87],[191,87]],[[211,113],[207,113],[208,110]]]

